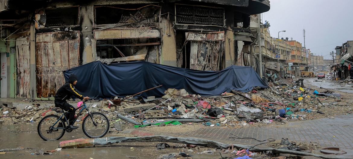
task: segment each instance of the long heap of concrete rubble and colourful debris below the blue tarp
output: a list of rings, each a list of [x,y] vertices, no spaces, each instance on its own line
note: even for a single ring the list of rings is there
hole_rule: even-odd
[[[120,106],[114,104],[118,99],[115,97],[102,101],[101,111],[110,114],[110,117],[112,113],[120,114],[122,120],[118,119],[120,117],[113,118],[113,124],[118,125],[116,130],[122,130],[122,125],[130,123],[134,127],[179,125],[183,122],[202,122],[203,126],[242,127],[312,119],[325,114],[335,105],[340,106],[338,102],[341,102],[338,93],[319,93],[317,90],[298,86],[298,82],[281,80],[277,83],[271,82],[266,89],[254,87],[247,93],[232,91],[212,97],[202,97],[189,94],[184,89],[173,88],[164,93],[166,95],[162,98],[131,97],[119,101]]]

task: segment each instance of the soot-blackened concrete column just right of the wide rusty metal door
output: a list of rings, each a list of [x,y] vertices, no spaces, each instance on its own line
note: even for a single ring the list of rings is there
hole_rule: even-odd
[[[80,51],[82,64],[95,61],[92,55],[92,44],[91,39],[93,38],[92,26],[93,26],[93,6],[80,6],[80,27],[81,27],[81,41]]]

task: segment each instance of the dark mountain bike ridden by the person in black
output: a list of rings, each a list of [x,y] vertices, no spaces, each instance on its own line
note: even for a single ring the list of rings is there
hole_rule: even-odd
[[[74,122],[78,119],[80,115],[82,115],[82,111],[86,110],[87,114],[83,117],[82,121],[82,131],[89,138],[101,138],[107,134],[109,130],[109,119],[106,115],[101,112],[91,112],[88,109],[85,101],[83,101],[83,105],[79,106],[75,109],[75,111],[79,110],[78,115],[75,117]],[[37,131],[39,136],[44,140],[55,139],[59,140],[62,138],[66,132],[71,132],[72,130],[68,130],[66,128],[66,124],[69,125],[68,119],[66,118],[66,111],[61,110],[57,111],[62,113],[62,115],[54,115],[50,114],[45,116],[42,120],[39,121],[37,126]],[[66,122],[66,124],[65,124]],[[87,127],[91,126],[91,127]],[[58,134],[58,136],[55,136]],[[46,137],[46,135],[50,137]]]

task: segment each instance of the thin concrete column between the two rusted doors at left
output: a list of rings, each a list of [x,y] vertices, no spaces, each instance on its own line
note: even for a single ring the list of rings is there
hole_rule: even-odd
[[[30,81],[30,92],[31,99],[36,99],[36,41],[35,41],[35,27],[34,21],[31,21],[30,26],[30,43],[29,43],[29,81]]]

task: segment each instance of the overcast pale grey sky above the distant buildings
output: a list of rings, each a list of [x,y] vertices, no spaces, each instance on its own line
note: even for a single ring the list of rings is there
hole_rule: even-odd
[[[312,53],[332,59],[329,52],[343,42],[353,40],[353,0],[270,0],[270,11],[262,14],[270,22],[270,34],[288,37]],[[336,52],[336,51],[334,51]]]

